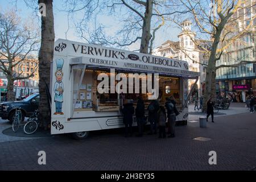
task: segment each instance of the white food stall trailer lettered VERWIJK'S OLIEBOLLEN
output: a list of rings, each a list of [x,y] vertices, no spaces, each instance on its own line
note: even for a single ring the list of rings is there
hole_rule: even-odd
[[[138,76],[139,83],[123,80],[131,74]],[[137,96],[144,100],[145,109],[151,99],[164,105],[166,97],[174,96],[180,111],[176,121],[187,121],[188,79],[197,82],[199,75],[188,70],[187,61],[58,39],[51,67],[51,134],[73,133],[82,139],[89,131],[124,127],[123,101],[133,100],[136,107]],[[102,77],[109,77],[104,93],[99,92]],[[142,92],[150,81],[152,88],[158,87],[156,98],[152,89]]]

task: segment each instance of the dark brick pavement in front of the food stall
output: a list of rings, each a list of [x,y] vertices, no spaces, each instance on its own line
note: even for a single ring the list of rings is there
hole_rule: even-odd
[[[176,127],[176,137],[124,138],[120,130],[76,141],[66,135],[0,143],[1,170],[252,170],[256,167],[256,113],[227,115],[200,128]],[[211,138],[208,142],[192,140]],[[46,151],[40,166],[38,151]],[[217,152],[217,165],[208,152]]]

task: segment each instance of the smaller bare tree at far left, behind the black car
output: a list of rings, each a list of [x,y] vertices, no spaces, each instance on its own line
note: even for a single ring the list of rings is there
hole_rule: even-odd
[[[31,59],[39,49],[39,34],[33,27],[22,22],[14,10],[0,13],[0,70],[7,77],[8,101],[15,100],[14,81],[34,77],[38,67],[36,56]],[[29,75],[21,69],[24,61],[33,65]]]

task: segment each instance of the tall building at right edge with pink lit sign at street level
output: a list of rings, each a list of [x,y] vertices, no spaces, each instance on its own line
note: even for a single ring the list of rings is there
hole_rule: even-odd
[[[238,10],[232,18],[237,17],[236,23],[238,26],[235,29],[237,34],[245,30],[245,27],[251,23],[250,29],[230,43],[222,53],[221,59],[216,63],[216,66],[219,66],[236,65],[242,63],[242,61],[252,62],[237,65],[237,67],[223,67],[216,71],[216,92],[218,96],[226,97],[230,94],[233,100],[237,102],[245,102],[246,97],[251,94],[256,96],[255,6],[252,6],[253,1],[247,3],[251,3],[251,6]],[[232,38],[232,35],[228,36],[227,41]]]

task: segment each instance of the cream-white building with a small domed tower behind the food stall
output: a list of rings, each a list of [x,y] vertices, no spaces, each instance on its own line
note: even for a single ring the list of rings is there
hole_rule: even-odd
[[[161,46],[152,51],[153,55],[169,57],[172,59],[185,60],[188,62],[189,71],[200,72],[199,81],[197,82],[192,96],[200,97],[204,94],[204,82],[206,65],[208,64],[207,52],[204,49],[209,49],[210,42],[205,40],[195,39],[196,33],[192,32],[192,22],[184,20],[181,23],[182,31],[177,37],[178,42],[167,40]],[[189,91],[192,89],[195,80],[188,81]]]

